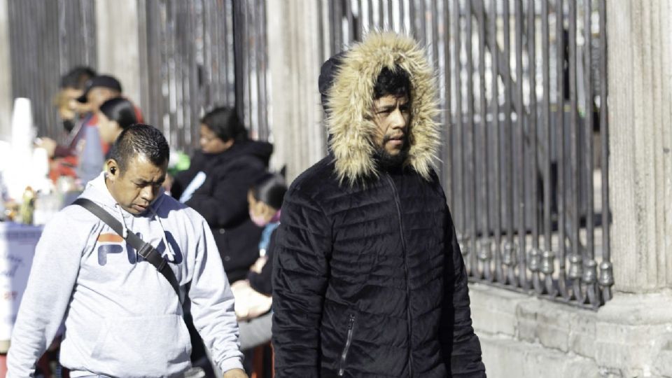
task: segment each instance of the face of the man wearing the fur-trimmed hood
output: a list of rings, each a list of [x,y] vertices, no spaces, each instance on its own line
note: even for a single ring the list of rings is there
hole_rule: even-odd
[[[377,126],[374,144],[384,155],[395,157],[408,148],[410,104],[406,96],[386,96],[373,103],[373,121]]]

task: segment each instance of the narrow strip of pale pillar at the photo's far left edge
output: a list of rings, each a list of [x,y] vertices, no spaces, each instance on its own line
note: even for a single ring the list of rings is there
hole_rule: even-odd
[[[7,0],[0,0],[0,139],[11,134],[12,66],[9,50],[9,8]]]

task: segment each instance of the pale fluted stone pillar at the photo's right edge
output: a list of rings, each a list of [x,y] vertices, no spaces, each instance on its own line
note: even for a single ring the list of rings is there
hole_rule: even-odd
[[[672,288],[672,2],[608,0],[615,289]]]

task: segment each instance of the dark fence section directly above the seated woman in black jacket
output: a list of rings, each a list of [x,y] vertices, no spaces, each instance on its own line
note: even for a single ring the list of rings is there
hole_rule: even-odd
[[[142,104],[172,146],[197,143],[199,118],[236,106],[267,139],[265,1],[139,0]]]

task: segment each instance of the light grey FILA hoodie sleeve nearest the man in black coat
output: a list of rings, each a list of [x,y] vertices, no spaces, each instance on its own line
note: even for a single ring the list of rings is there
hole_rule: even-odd
[[[189,288],[194,325],[223,372],[242,369],[234,297],[214,237],[205,221]]]

